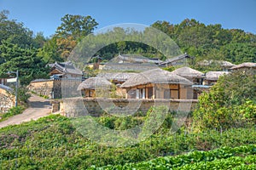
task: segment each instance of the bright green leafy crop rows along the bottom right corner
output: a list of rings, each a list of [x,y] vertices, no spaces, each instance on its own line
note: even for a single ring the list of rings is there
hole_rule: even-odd
[[[126,163],[125,165],[108,165],[106,167],[91,166],[96,169],[230,169],[244,165],[256,166],[256,145],[242,145],[235,148],[224,147],[217,150],[190,152],[182,156],[159,157],[150,161],[139,163]]]

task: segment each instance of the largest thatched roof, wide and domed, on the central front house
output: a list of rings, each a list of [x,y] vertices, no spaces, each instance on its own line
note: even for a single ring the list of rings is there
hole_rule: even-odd
[[[153,69],[143,71],[136,77],[131,77],[121,85],[121,88],[130,88],[138,85],[155,83],[155,84],[192,84],[188,79],[179,77],[170,71],[162,69]]]

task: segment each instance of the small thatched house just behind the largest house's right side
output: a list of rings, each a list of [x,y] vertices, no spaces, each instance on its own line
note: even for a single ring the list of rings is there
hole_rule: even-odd
[[[191,69],[188,66],[178,68],[175,71],[172,71],[172,73],[177,74],[177,76],[189,79],[189,81],[193,82],[195,85],[201,85],[203,78],[205,77],[205,74],[201,71],[196,71],[195,69]]]

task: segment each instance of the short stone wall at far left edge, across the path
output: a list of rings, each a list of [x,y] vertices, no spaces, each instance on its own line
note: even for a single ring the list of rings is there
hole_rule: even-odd
[[[0,113],[5,113],[14,106],[15,106],[15,96],[13,96],[12,94],[9,94],[3,88],[0,88]]]

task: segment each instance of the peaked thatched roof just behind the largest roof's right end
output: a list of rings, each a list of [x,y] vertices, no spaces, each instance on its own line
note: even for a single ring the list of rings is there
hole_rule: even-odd
[[[195,69],[191,69],[188,66],[178,68],[175,71],[172,71],[172,73],[177,74],[180,77],[204,77],[204,73],[201,71],[196,71]]]

